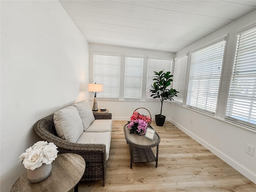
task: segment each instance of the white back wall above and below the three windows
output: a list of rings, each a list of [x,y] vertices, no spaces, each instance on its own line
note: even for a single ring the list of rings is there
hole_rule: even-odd
[[[152,50],[142,50],[142,49],[133,49],[133,48],[124,48],[124,47],[118,47],[118,46],[106,46],[106,45],[98,45],[98,44],[90,44],[90,74],[93,74],[92,69],[92,62],[93,52],[102,52],[102,53],[117,53],[121,54],[121,61],[125,62],[125,54],[130,55],[140,55],[144,56],[144,64],[147,63],[148,56],[153,57],[162,57],[162,58],[174,58],[174,53],[169,52],[161,52],[161,51],[152,51]],[[93,81],[93,76],[90,76],[91,82]],[[91,96],[92,99],[92,96]],[[90,104],[92,106],[93,101],[90,101]],[[152,102],[152,101],[97,101],[98,108],[106,107],[111,113],[113,120],[130,120],[130,116],[132,115],[133,110],[136,108],[144,107],[148,109],[152,115],[152,118],[154,119],[154,116],[156,114],[160,114],[161,109],[161,103],[158,102]],[[169,103],[165,102],[163,105],[163,112],[162,114],[166,114],[166,110],[168,109]],[[145,112],[146,111],[141,111]]]

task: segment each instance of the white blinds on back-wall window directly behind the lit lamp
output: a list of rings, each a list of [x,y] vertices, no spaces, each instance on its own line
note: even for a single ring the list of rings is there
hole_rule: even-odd
[[[119,99],[120,60],[120,55],[93,54],[93,81],[104,86],[97,98]]]

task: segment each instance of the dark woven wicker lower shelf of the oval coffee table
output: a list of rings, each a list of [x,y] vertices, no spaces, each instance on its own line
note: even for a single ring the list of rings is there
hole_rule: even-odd
[[[132,163],[144,163],[152,161],[156,162],[157,167],[157,158],[151,148],[136,147],[129,144],[129,152],[131,158],[130,168],[132,168]]]

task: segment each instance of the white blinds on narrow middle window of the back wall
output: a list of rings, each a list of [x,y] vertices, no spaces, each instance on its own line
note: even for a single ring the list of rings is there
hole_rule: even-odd
[[[124,99],[140,100],[142,90],[143,58],[125,58]]]

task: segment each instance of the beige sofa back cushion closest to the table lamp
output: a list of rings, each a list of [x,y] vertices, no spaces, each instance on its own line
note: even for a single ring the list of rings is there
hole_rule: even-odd
[[[85,131],[95,119],[89,103],[86,100],[83,100],[72,106],[76,107],[78,110]]]

